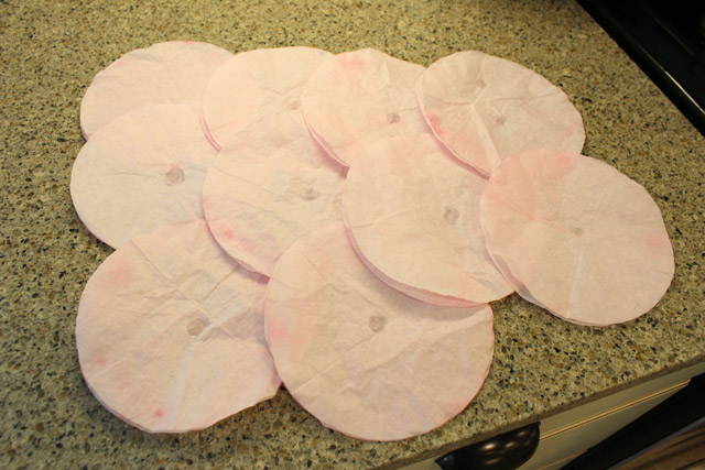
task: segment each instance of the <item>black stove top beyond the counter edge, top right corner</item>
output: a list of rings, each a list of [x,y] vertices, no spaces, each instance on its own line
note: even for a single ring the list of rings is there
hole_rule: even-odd
[[[705,135],[705,2],[578,2]]]

